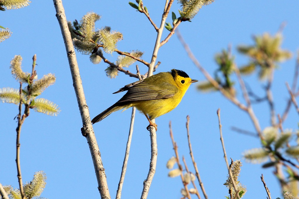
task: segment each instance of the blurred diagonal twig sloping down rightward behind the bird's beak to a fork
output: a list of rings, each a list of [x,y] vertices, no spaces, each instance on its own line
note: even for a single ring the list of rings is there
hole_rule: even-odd
[[[199,61],[195,58],[195,56],[193,55],[192,51],[190,50],[189,46],[186,44],[186,42],[184,41],[184,38],[181,36],[181,34],[179,33],[179,31],[176,31],[176,35],[179,38],[179,41],[181,42],[181,44],[184,46],[184,49],[186,50],[188,56],[190,57],[190,59],[193,61],[193,63],[196,65],[196,67],[202,72],[203,75],[205,75],[205,78],[211,83],[213,84],[213,86],[218,89],[222,95],[224,95],[225,97],[227,97],[232,103],[234,103],[235,105],[237,105],[240,109],[247,111],[247,107],[240,103],[236,97],[233,97],[230,93],[228,93],[224,88],[222,88],[218,82],[216,80],[214,80],[214,78],[211,77],[211,75],[199,64]]]

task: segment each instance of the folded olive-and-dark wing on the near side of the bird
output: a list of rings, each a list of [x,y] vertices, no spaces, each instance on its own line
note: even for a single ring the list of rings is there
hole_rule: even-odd
[[[177,87],[165,82],[159,86],[138,82],[127,90],[128,92],[118,102],[170,98],[178,92]]]

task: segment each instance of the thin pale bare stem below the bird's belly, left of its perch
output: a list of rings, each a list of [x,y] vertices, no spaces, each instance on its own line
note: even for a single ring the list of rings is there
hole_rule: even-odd
[[[126,175],[126,169],[127,169],[127,164],[128,164],[128,160],[129,160],[129,153],[130,153],[130,147],[131,147],[131,141],[132,141],[132,135],[133,135],[135,112],[136,112],[136,108],[133,107],[132,108],[132,116],[131,116],[131,124],[130,124],[130,129],[129,129],[129,136],[128,136],[126,152],[125,152],[125,158],[123,160],[123,167],[121,169],[120,180],[119,180],[118,189],[116,192],[116,199],[120,199],[121,189],[123,188],[123,181],[124,181],[125,175]]]

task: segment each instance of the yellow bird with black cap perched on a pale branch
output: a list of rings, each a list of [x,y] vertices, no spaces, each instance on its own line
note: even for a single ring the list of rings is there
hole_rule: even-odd
[[[91,122],[94,124],[103,120],[112,112],[136,107],[149,121],[147,130],[149,130],[150,126],[153,126],[157,131],[157,124],[151,120],[176,108],[189,86],[197,81],[191,79],[186,72],[177,69],[172,69],[169,72],[160,72],[148,78],[135,81],[114,92],[113,94],[127,91],[120,100],[95,116]]]

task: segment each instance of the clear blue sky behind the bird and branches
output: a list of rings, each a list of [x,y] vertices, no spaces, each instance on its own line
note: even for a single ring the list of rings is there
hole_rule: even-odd
[[[63,1],[68,21],[80,18],[93,11],[102,16],[96,22],[96,28],[110,26],[112,30],[123,33],[118,42],[121,51],[140,50],[143,59],[150,61],[156,32],[147,18],[129,6],[127,1]],[[146,1],[149,14],[156,24],[160,24],[164,1]],[[299,2],[298,1],[215,1],[203,7],[192,22],[179,26],[181,34],[189,44],[196,58],[211,74],[216,69],[214,55],[232,45],[238,66],[246,64],[248,59],[237,53],[239,44],[253,44],[252,36],[265,32],[275,34],[281,23],[283,29],[283,49],[293,53],[292,59],[280,64],[275,72],[273,97],[277,113],[282,114],[288,92],[285,82],[291,84],[295,69],[295,55],[299,47]],[[171,11],[177,16],[179,5],[174,2]],[[18,88],[18,83],[10,74],[10,61],[14,55],[23,57],[24,71],[31,71],[32,56],[37,55],[37,74],[42,77],[48,73],[56,75],[56,83],[48,87],[40,97],[56,103],[61,112],[57,117],[30,112],[21,133],[21,169],[23,181],[30,181],[34,172],[43,170],[47,174],[47,185],[42,193],[45,198],[99,198],[97,181],[94,175],[90,152],[86,139],[81,135],[81,117],[72,86],[71,74],[62,40],[60,27],[55,17],[52,1],[33,1],[30,6],[7,10],[1,13],[1,26],[9,27],[12,36],[1,42],[0,88]],[[171,22],[171,16],[167,19]],[[162,38],[168,31],[165,29]],[[84,92],[91,118],[114,104],[122,94],[112,94],[123,85],[136,81],[135,78],[120,73],[117,78],[106,77],[107,64],[97,65],[89,61],[89,56],[76,53],[83,81]],[[105,55],[115,61],[116,53]],[[205,80],[204,76],[187,57],[176,35],[165,44],[158,53],[161,61],[157,72],[173,68],[184,70],[193,79]],[[147,68],[138,64],[142,73]],[[134,65],[129,67],[135,72]],[[244,78],[257,94],[263,96],[257,75]],[[237,95],[241,102],[241,90],[237,86]],[[174,155],[169,137],[169,121],[179,146],[179,155],[184,155],[189,169],[194,171],[188,156],[185,129],[186,116],[190,115],[190,136],[194,156],[199,167],[202,181],[209,198],[224,198],[228,194],[223,185],[227,169],[223,159],[219,139],[216,110],[221,109],[223,136],[228,157],[241,159],[243,167],[239,180],[248,191],[244,198],[266,198],[266,192],[260,181],[263,173],[273,198],[281,197],[278,182],[272,169],[262,169],[259,164],[246,163],[242,152],[260,147],[257,138],[240,135],[231,130],[239,127],[254,131],[252,123],[245,114],[219,93],[200,93],[196,85],[191,85],[179,106],[172,112],[156,119],[158,124],[158,162],[155,177],[148,198],[180,198],[182,183],[180,178],[169,178],[167,160]],[[254,112],[261,128],[270,125],[269,107],[266,103],[254,104]],[[0,183],[18,187],[15,164],[15,128],[13,118],[18,113],[14,104],[0,103]],[[100,123],[93,125],[100,147],[104,168],[112,198],[115,198],[120,177],[123,156],[129,131],[131,109],[112,113]],[[292,106],[289,117],[283,124],[284,129],[298,129],[298,114]],[[148,122],[144,115],[136,114],[131,152],[128,162],[122,198],[139,198],[143,181],[147,177],[150,161]]]

